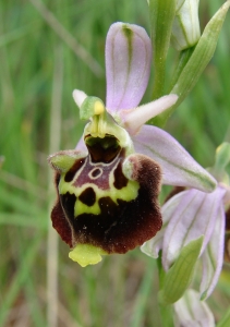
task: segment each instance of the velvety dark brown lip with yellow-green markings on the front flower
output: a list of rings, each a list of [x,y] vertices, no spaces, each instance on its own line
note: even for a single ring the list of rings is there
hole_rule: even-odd
[[[97,155],[90,149],[93,159],[89,153],[84,159],[76,159],[64,173],[52,165],[58,193],[52,223],[71,247],[82,243],[101,247],[107,253],[125,253],[152,239],[161,228],[160,168],[143,155],[125,157],[125,152],[117,148],[112,158],[111,149],[107,155],[99,143],[96,147]],[[75,154],[74,150],[60,153],[71,157]],[[107,162],[101,162],[101,157]],[[126,164],[131,167],[129,178],[124,174]],[[60,181],[65,183],[64,193],[59,191]],[[136,195],[128,199],[133,185]]]

